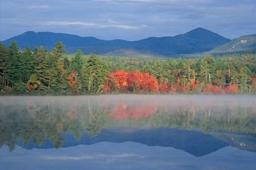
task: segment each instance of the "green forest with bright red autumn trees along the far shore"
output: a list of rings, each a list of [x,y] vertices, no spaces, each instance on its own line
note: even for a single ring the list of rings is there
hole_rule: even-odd
[[[0,43],[1,95],[256,94],[256,53],[202,59],[68,55]]]

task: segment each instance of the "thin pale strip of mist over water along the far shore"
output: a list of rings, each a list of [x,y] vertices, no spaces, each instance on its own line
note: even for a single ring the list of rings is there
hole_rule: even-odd
[[[102,96],[2,96],[1,104],[189,104],[223,106],[239,104],[239,106],[255,106],[256,96],[204,96],[204,95],[102,95]]]

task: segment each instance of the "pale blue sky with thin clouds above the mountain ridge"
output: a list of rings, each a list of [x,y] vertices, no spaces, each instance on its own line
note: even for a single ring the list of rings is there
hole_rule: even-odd
[[[256,34],[255,0],[0,0],[0,41],[26,31],[100,39],[175,36],[203,27]]]

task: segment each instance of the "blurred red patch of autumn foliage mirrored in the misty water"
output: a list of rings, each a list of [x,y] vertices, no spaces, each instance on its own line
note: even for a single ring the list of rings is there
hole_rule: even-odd
[[[140,118],[147,118],[156,112],[158,104],[118,104],[115,108],[107,111],[108,117],[113,117],[114,119],[122,120],[125,118],[132,118],[139,120]]]

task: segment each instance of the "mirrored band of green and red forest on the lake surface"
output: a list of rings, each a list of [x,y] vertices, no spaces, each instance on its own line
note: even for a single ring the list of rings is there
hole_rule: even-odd
[[[44,98],[44,97],[43,97]],[[115,97],[114,97],[115,98]],[[255,103],[90,97],[81,101],[47,102],[0,100],[0,146],[10,151],[22,143],[51,141],[60,148],[68,132],[76,139],[86,132],[96,136],[104,127],[150,126],[256,134]]]

